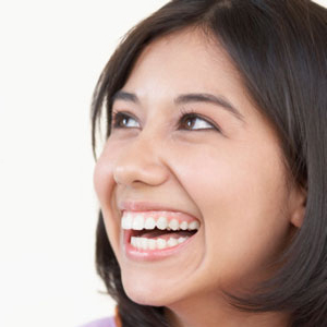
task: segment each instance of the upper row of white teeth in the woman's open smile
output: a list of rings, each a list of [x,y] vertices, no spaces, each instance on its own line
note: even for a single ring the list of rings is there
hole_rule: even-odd
[[[142,229],[167,229],[167,230],[197,230],[199,228],[199,223],[196,220],[185,221],[182,218],[167,218],[165,216],[160,216],[155,218],[154,216],[149,216],[148,214],[140,214],[140,213],[125,213],[123,214],[121,226],[123,229],[133,229],[133,230],[142,230]]]

